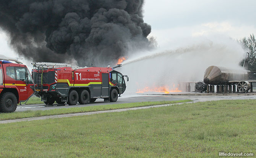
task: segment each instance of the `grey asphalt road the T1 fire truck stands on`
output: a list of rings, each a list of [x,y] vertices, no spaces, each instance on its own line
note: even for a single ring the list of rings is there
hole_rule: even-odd
[[[178,101],[191,99],[196,102],[203,101],[217,101],[217,100],[235,100],[235,99],[256,99],[255,95],[235,95],[235,96],[187,96],[187,95],[133,95],[133,96],[123,96],[119,97],[117,102],[104,102],[103,99],[97,99],[94,103],[89,103],[86,105],[18,105],[16,111],[26,111],[26,110],[50,110],[50,109],[61,109],[61,108],[72,108],[72,107],[86,107],[95,105],[108,105],[108,104],[123,104],[132,102],[147,102],[147,101]]]

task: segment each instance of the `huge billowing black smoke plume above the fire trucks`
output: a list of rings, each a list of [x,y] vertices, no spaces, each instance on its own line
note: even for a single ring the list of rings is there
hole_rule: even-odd
[[[114,64],[150,48],[144,0],[0,0],[0,27],[33,61]]]

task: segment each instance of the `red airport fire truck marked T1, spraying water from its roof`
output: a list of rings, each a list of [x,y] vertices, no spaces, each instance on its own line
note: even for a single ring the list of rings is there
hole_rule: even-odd
[[[74,67],[66,63],[36,62],[32,78],[34,90],[46,105],[76,105],[94,102],[98,98],[116,102],[125,92],[124,77],[115,67]]]

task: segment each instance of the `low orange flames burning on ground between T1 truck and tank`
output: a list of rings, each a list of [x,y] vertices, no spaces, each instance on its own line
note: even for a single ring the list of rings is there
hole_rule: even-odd
[[[178,87],[179,86],[180,85],[178,85]],[[160,87],[154,87],[154,88],[150,88],[147,86],[143,89],[137,89],[136,93],[159,92],[159,93],[169,94],[171,92],[181,92],[181,90],[179,90],[178,87],[176,87],[175,84],[173,84],[172,88],[170,88],[169,86],[160,86]]]

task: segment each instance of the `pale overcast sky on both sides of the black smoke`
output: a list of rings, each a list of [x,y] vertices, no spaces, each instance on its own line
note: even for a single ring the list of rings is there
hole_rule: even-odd
[[[240,39],[256,34],[255,0],[145,1],[144,21],[152,26],[150,35],[156,38],[159,47],[188,37],[224,35]],[[17,56],[2,31],[0,47],[0,54]]]

